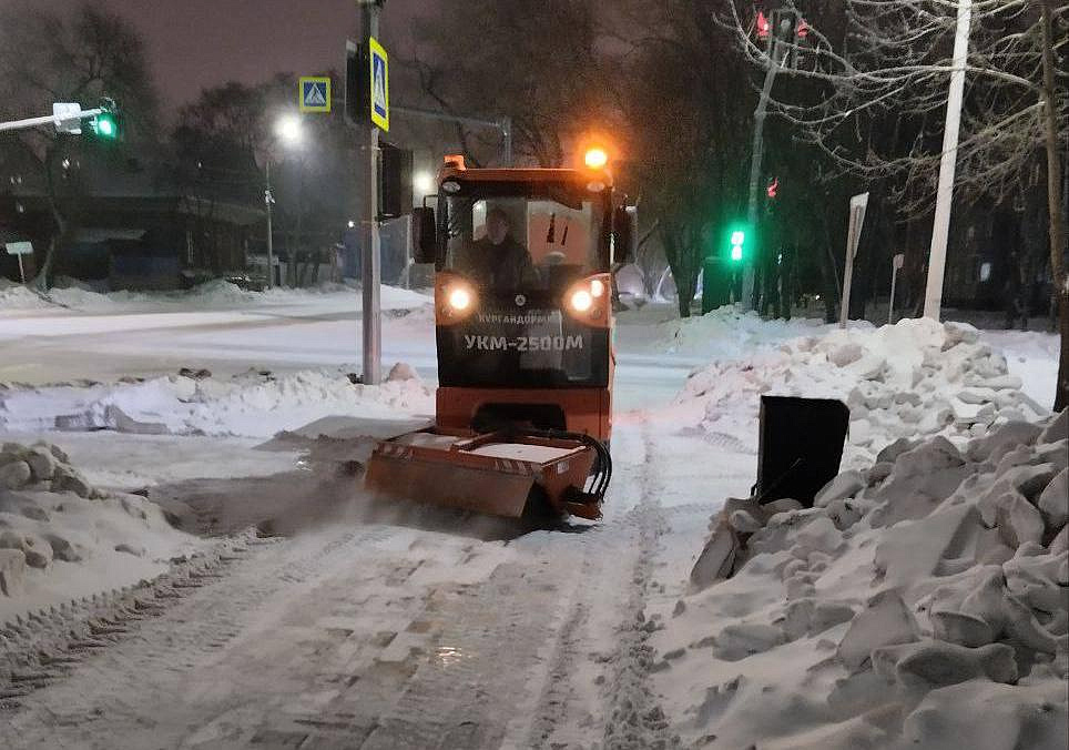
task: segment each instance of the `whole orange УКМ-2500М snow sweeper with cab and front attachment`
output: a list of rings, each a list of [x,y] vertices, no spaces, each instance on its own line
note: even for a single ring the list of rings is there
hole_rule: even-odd
[[[435,424],[379,442],[379,495],[497,516],[601,517],[612,474],[612,277],[635,211],[603,151],[578,169],[467,169],[448,156],[415,210],[435,264]]]

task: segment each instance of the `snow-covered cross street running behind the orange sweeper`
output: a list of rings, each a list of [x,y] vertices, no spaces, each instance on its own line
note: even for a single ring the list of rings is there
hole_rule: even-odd
[[[98,307],[89,314],[65,308],[8,314],[0,310],[4,352],[0,383],[109,382],[124,375],[173,374],[181,367],[204,367],[217,376],[250,367],[293,372],[345,365],[358,372],[363,356],[358,303],[354,292],[204,312],[169,308],[174,305]],[[651,320],[670,316],[670,311],[662,310]],[[398,307],[387,310],[384,317],[384,363],[407,362],[434,382],[437,361],[429,310]],[[643,336],[654,334],[653,327],[637,326],[638,343],[645,345]],[[621,332],[618,359],[620,408],[670,399],[688,373],[707,362],[699,354],[630,351],[629,333]]]

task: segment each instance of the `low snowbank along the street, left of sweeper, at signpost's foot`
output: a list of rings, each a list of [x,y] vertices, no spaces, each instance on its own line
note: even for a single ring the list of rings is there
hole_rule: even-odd
[[[269,437],[327,416],[434,413],[432,389],[407,365],[379,386],[356,381],[346,369],[248,371],[227,379],[183,371],[140,383],[0,389],[0,430]]]

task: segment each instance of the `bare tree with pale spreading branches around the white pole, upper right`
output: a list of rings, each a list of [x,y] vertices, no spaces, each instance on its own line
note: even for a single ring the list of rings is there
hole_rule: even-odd
[[[886,184],[906,214],[923,213],[931,204],[946,87],[955,70],[956,8],[954,0],[848,0],[839,11],[845,16],[842,28],[828,27],[845,31],[837,39],[822,30],[822,6],[806,18],[804,38],[795,26],[781,42],[793,59],[803,61],[784,72],[808,88],[774,94],[775,111],[841,172]],[[791,3],[787,9],[796,24],[802,13]],[[750,60],[762,69],[773,64],[734,3],[727,16]],[[1069,78],[1059,67],[1067,44],[1065,3],[975,0],[956,154],[958,195],[964,200],[1011,196],[1037,162],[1046,163],[1050,268],[1062,331],[1056,408],[1069,405],[1061,181],[1069,148]]]

